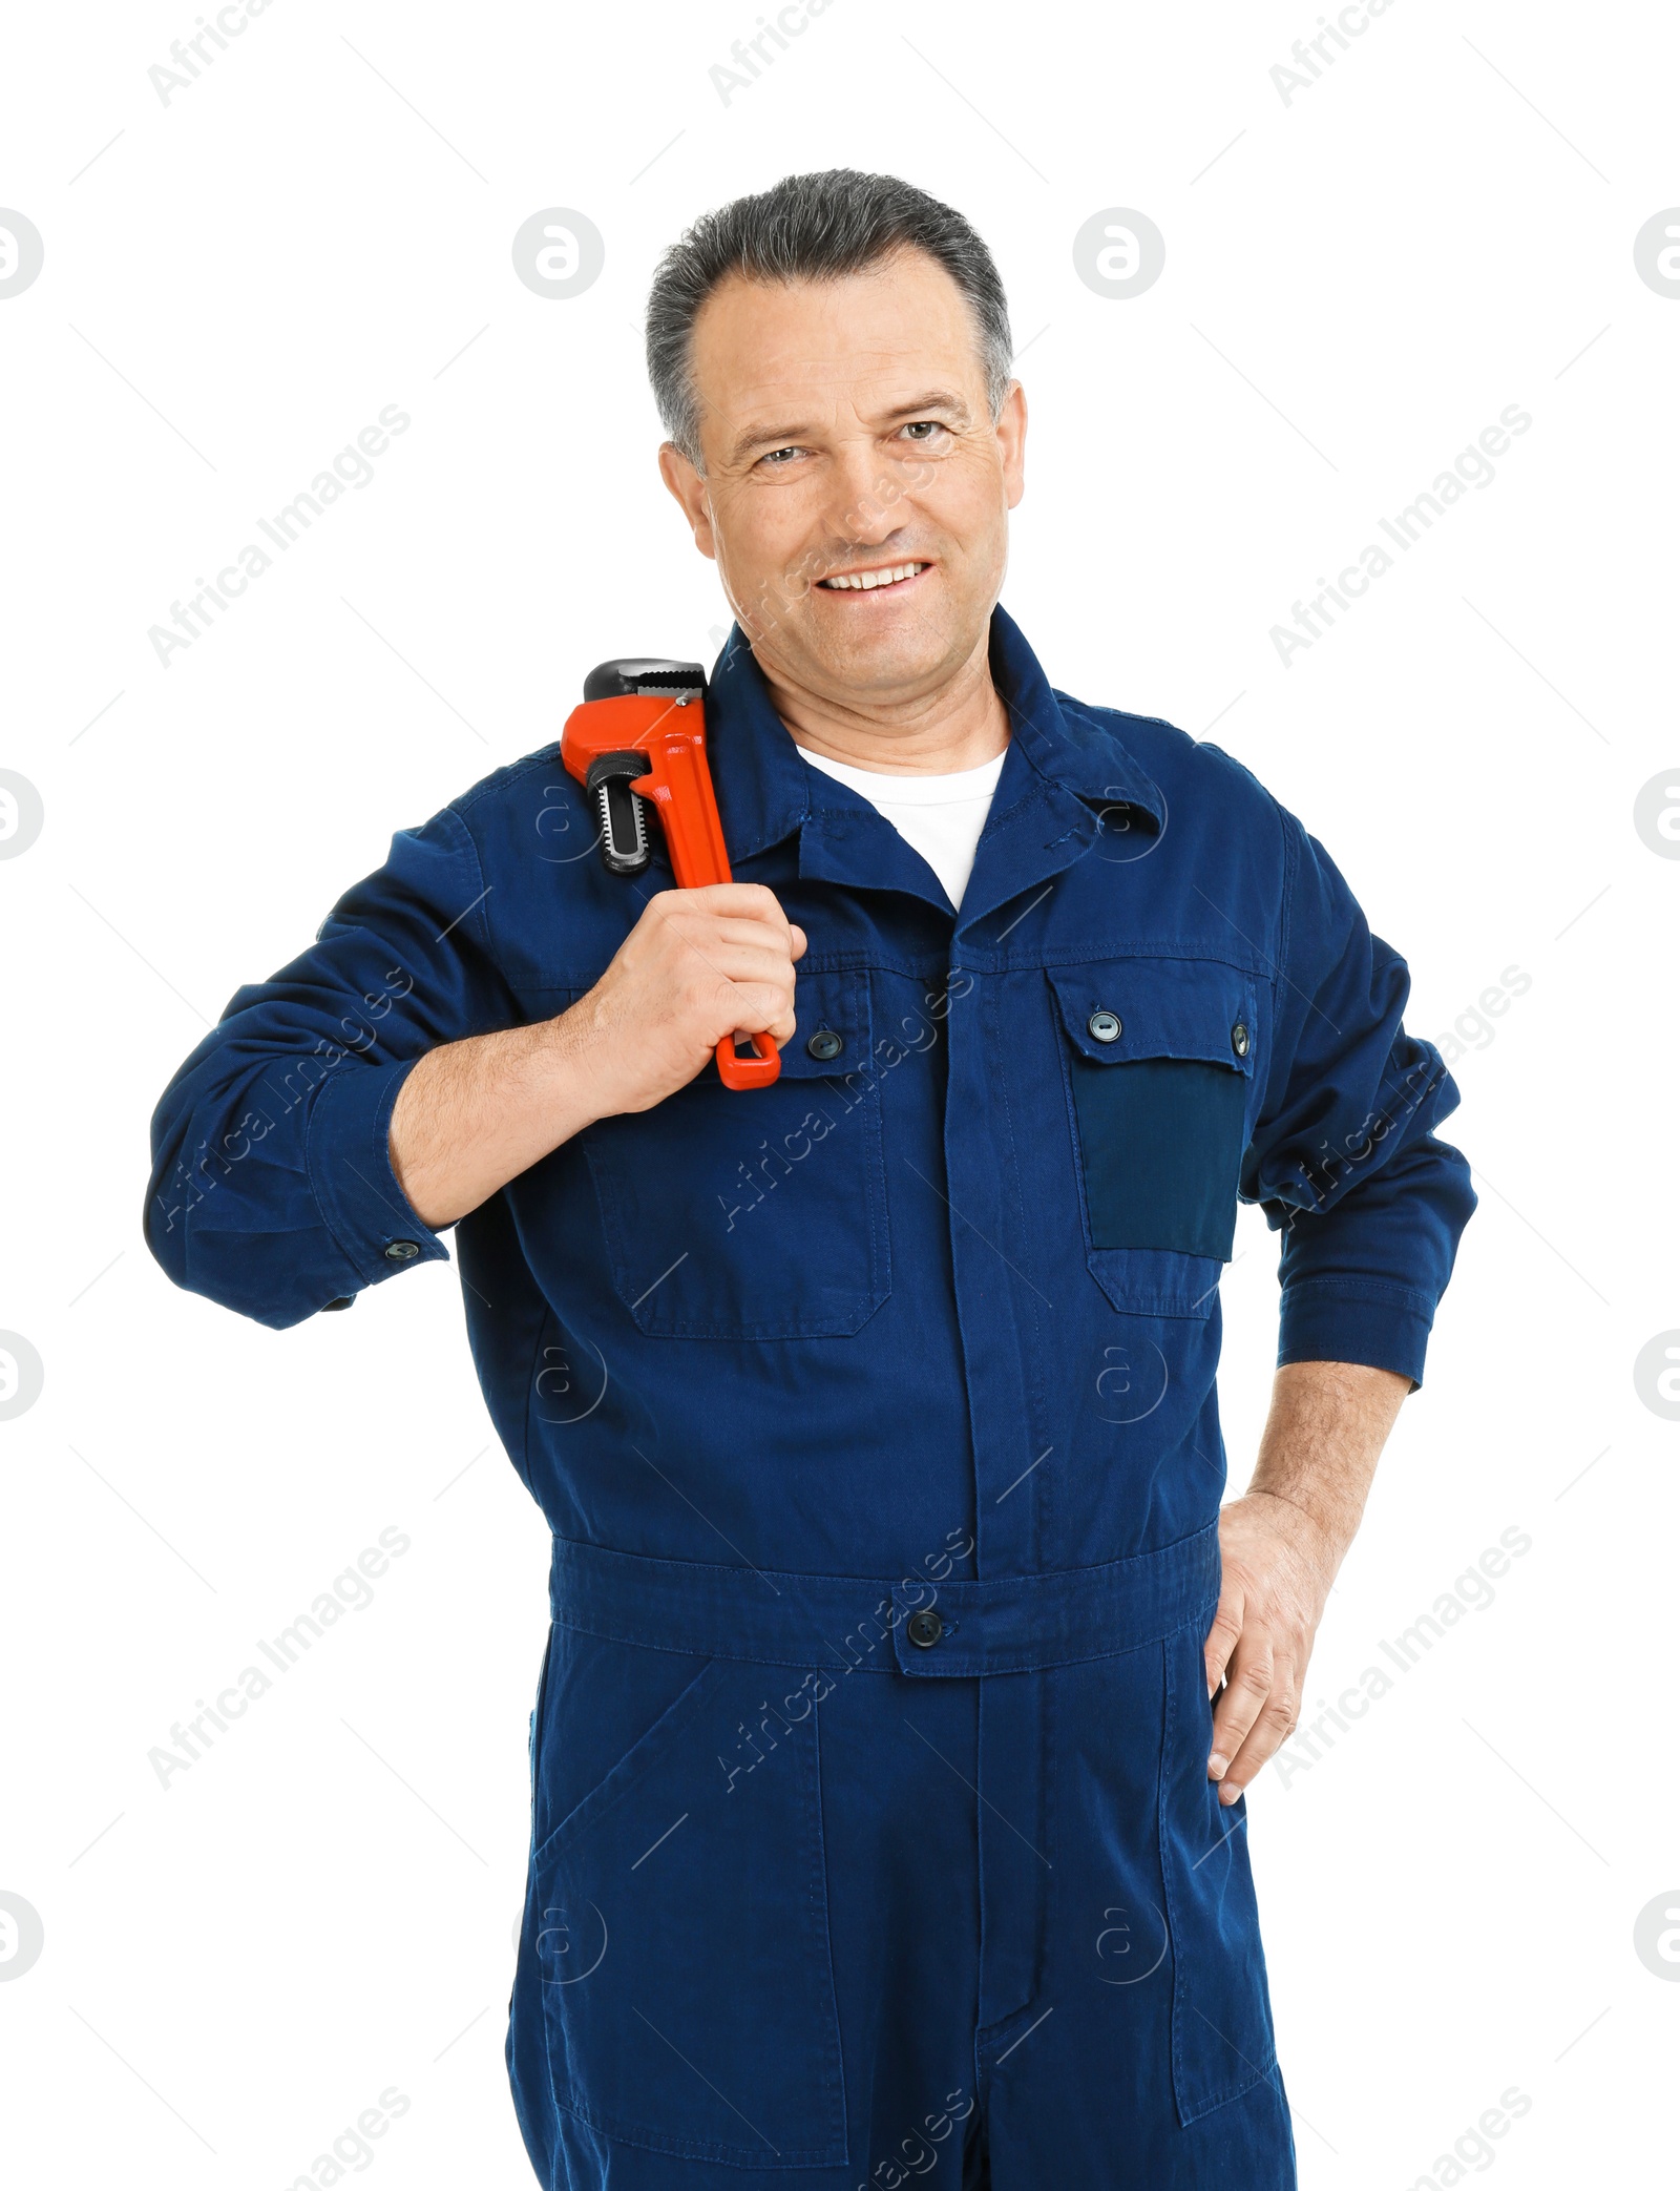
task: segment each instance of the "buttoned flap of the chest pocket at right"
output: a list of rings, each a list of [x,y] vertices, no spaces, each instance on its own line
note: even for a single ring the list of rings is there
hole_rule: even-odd
[[[1255,984],[1220,960],[1049,966],[1062,1025],[1093,1065],[1194,1058],[1253,1071]]]

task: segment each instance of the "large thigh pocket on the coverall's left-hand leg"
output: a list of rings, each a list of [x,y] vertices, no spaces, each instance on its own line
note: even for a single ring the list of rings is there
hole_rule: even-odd
[[[839,2167],[817,1711],[762,1689],[710,1661],[537,1847],[550,2079],[629,2145]]]

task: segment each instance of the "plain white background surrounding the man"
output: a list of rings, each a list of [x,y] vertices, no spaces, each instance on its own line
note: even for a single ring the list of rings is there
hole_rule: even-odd
[[[46,1937],[0,1983],[9,2178],[291,2184],[394,2084],[377,2182],[528,2182],[502,2031],[545,1529],[456,1275],[285,1334],[171,1290],[147,1117],[230,993],[392,828],[552,738],[591,662],[712,657],[723,600],[655,473],[648,272],[705,206],[856,164],[999,256],[1032,405],[1003,598],[1051,679],[1218,721],[1406,953],[1415,1032],[1531,977],[1454,1067],[1483,1203],[1310,1694],[1384,1665],[1503,1529],[1531,1551],[1251,1799],[1303,2184],[1450,2182],[1509,2086],[1533,2106],[1468,2173],[1658,2180],[1680,1985],[1634,1922],[1680,1904],[1680,1426],[1632,1365],[1680,1323],[1680,865],[1632,808],[1680,760],[1680,300],[1632,243],[1680,202],[1671,11],[1393,0],[1286,103],[1314,0],[832,0],[725,103],[753,0],[272,0],[164,105],[147,70],[195,13],[18,11],[0,79],[0,204],[46,239],[0,302],[0,767],[46,806],[0,863],[0,1326],[46,1365],[0,1424],[0,1889]],[[583,296],[515,280],[545,206],[607,239]],[[1132,300],[1073,269],[1108,206],[1165,234]],[[162,668],[147,629],[388,403],[412,427],[375,482]],[[1286,668],[1270,627],[1511,403],[1533,427],[1494,484]],[[1238,1247],[1242,1481],[1257,1214]],[[147,1751],[383,1527],[412,1549],[375,1604],[164,1792]]]

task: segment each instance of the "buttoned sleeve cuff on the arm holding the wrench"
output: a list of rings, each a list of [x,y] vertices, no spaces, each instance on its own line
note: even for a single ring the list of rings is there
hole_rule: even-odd
[[[390,1163],[390,1113],[418,1058],[329,1074],[309,1113],[309,1185],[329,1231],[364,1286],[416,1262],[449,1262]]]

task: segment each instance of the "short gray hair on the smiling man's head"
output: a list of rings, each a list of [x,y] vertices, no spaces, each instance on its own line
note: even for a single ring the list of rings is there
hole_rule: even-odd
[[[784,175],[756,197],[701,215],[670,245],[648,291],[648,379],[666,434],[703,471],[692,340],[701,305],[729,274],[760,283],[837,280],[894,252],[920,250],[962,289],[975,316],[992,418],[1010,388],[1010,307],[997,261],[968,221],[896,175],[830,167]]]

